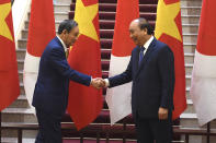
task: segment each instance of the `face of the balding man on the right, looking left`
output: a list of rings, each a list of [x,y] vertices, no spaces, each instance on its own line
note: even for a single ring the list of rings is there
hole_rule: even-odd
[[[143,46],[145,43],[146,32],[140,29],[138,22],[133,21],[129,25],[129,36],[134,40],[135,45]]]

